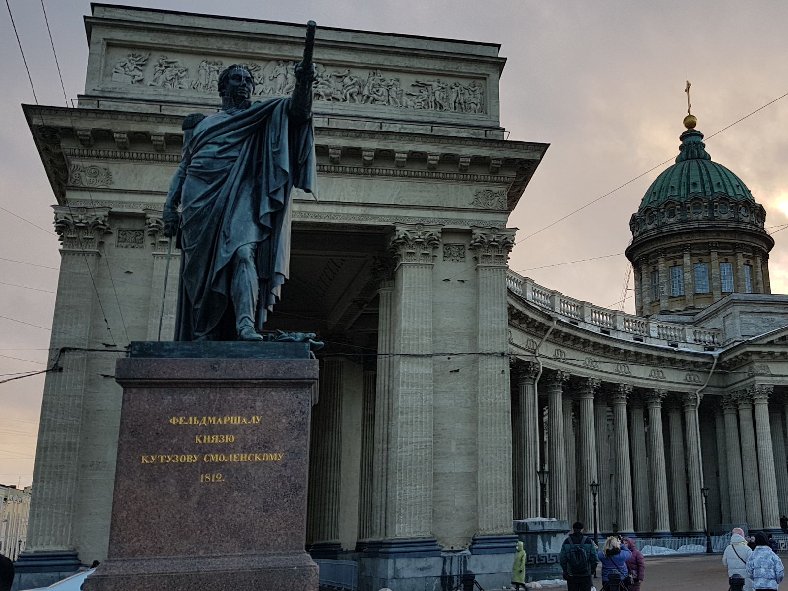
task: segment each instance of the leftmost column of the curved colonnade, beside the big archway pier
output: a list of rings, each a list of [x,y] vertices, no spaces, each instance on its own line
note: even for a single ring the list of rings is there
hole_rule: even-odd
[[[517,429],[512,433],[514,447],[519,450],[514,463],[515,519],[539,515],[539,429],[535,388],[538,374],[539,366],[533,362],[519,364],[515,372],[519,413],[513,421]]]

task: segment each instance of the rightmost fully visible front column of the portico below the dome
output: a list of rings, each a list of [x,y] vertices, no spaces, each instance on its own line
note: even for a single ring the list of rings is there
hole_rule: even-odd
[[[780,529],[775,455],[771,448],[771,428],[769,426],[769,396],[771,396],[773,389],[774,386],[771,384],[758,384],[749,388],[749,395],[752,396],[753,403],[755,403],[760,506],[764,515],[764,528],[767,530]]]

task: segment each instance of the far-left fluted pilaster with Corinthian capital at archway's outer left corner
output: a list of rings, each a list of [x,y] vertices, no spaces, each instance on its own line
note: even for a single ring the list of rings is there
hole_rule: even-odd
[[[61,241],[61,262],[50,337],[53,351],[48,362],[61,370],[46,374],[44,381],[27,548],[20,561],[35,552],[53,552],[53,570],[69,571],[79,566],[73,550],[73,520],[87,385],[84,349],[110,343],[112,339],[103,326],[99,335],[91,333],[97,304],[93,278],[101,257],[99,247],[110,233],[110,208],[53,209],[54,229]],[[114,336],[121,335],[117,331]],[[60,352],[61,348],[76,350]]]

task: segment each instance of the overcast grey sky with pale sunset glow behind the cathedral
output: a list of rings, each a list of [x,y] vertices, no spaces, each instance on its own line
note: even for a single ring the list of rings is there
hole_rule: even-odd
[[[71,99],[84,90],[83,16],[90,3],[45,2]],[[511,215],[509,225],[520,229],[519,239],[674,157],[687,78],[693,83],[693,114],[706,136],[788,92],[785,0],[106,3],[291,22],[311,18],[318,25],[500,43],[508,60],[500,86],[501,125],[510,139],[551,144]],[[39,102],[62,106],[40,2],[10,5]],[[41,226],[0,210],[0,374],[11,374],[44,367],[48,330],[7,318],[50,326],[59,258],[51,232],[54,195],[20,109],[34,99],[5,7],[0,55],[0,206]],[[766,207],[768,226],[788,224],[786,129],[788,97],[707,144],[712,158],[737,173]],[[617,307],[629,268],[623,256],[631,238],[629,217],[666,166],[522,241],[511,268],[568,296]],[[775,241],[771,288],[786,293],[788,230]],[[560,265],[605,255],[615,256]],[[633,311],[633,304],[630,297],[624,309]],[[0,482],[32,480],[42,388],[42,376],[0,385]]]

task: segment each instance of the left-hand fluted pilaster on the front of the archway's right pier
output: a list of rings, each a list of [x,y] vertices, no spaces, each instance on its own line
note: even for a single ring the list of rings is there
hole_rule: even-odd
[[[386,537],[380,556],[440,554],[433,520],[433,250],[440,226],[397,224]],[[421,354],[421,355],[418,355]],[[510,504],[511,507],[511,504]],[[508,515],[508,511],[507,511]]]

